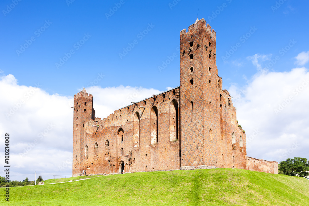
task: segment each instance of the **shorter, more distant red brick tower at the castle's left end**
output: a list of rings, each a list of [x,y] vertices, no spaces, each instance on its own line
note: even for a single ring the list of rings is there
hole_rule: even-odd
[[[95,119],[93,109],[93,97],[83,91],[74,95],[74,115],[73,115],[73,176],[81,175],[84,161],[84,123]]]

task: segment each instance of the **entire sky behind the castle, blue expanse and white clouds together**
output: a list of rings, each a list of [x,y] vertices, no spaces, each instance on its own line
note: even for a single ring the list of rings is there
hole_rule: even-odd
[[[1,1],[0,134],[11,136],[12,179],[34,179],[35,170],[43,179],[72,173],[70,106],[84,86],[102,119],[179,86],[180,31],[188,31],[197,11],[217,32],[218,75],[246,130],[247,155],[309,159],[308,6],[304,0]]]

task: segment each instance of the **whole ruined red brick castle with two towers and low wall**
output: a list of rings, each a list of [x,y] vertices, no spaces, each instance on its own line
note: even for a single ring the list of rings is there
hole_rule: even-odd
[[[180,86],[101,120],[86,90],[74,95],[73,176],[240,168],[278,173],[247,157],[246,134],[216,65],[216,32],[201,19],[180,32]]]

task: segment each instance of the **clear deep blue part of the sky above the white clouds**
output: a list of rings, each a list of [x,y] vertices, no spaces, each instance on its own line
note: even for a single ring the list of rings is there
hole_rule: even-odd
[[[39,82],[40,88],[60,95],[74,95],[84,84],[93,82],[98,73],[105,75],[96,84],[102,87],[129,85],[165,90],[167,86],[179,86],[180,61],[176,48],[180,44],[180,31],[188,30],[194,23],[198,8],[198,18],[204,18],[217,32],[218,73],[225,88],[231,83],[243,85],[244,76],[250,78],[256,73],[256,67],[246,59],[248,56],[277,55],[294,39],[297,43],[272,68],[285,71],[287,65],[294,64],[293,57],[308,48],[307,1],[283,1],[273,12],[271,7],[276,1],[174,1],[177,4],[171,6],[173,1],[124,0],[107,18],[106,13],[119,2],[18,2],[0,17],[0,69],[4,74],[13,74],[22,85],[34,86]],[[0,8],[6,10],[11,3],[2,1]],[[226,7],[222,6],[224,3]],[[45,21],[51,24],[37,36],[35,31]],[[140,40],[137,35],[148,23],[155,27]],[[257,30],[243,43],[239,38],[251,27]],[[84,34],[91,37],[76,50],[74,44]],[[31,37],[35,41],[18,56],[16,50]],[[138,40],[138,44],[121,59],[119,53],[133,40]],[[238,42],[241,47],[224,63],[220,57]],[[57,69],[55,64],[71,49],[74,54]],[[158,66],[174,52],[178,57],[160,72]]]

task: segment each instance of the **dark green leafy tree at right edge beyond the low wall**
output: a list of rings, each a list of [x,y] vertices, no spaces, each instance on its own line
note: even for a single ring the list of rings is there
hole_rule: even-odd
[[[307,177],[309,176],[309,161],[307,158],[288,158],[286,161],[279,163],[280,172],[290,176],[300,176]]]

